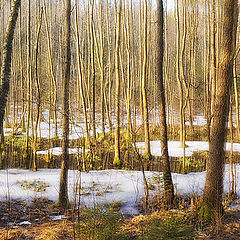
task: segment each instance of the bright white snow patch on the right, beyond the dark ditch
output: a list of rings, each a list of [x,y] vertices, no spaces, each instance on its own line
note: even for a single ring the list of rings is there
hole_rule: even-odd
[[[145,143],[138,142],[136,143],[141,153],[144,153]],[[154,156],[161,156],[161,143],[160,141],[151,141],[151,153]],[[208,151],[209,144],[204,141],[186,141],[185,156],[192,156],[193,152],[196,151]],[[231,143],[226,143],[226,150],[231,150]],[[180,145],[179,141],[168,141],[168,151],[170,157],[182,157],[183,148]],[[233,151],[240,152],[240,143],[233,143]]]

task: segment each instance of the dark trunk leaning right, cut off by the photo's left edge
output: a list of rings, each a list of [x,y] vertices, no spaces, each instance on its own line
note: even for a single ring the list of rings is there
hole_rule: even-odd
[[[0,134],[1,142],[3,141],[3,118],[5,114],[5,107],[7,103],[7,97],[9,92],[10,74],[11,74],[11,60],[12,60],[12,42],[14,29],[16,26],[18,11],[21,6],[21,0],[14,0],[8,26],[6,30],[5,43],[3,47],[3,59],[1,67],[1,79],[0,79]]]

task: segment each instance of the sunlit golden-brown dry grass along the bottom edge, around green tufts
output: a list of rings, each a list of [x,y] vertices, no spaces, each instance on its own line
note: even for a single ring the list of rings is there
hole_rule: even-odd
[[[150,215],[140,215],[122,222],[120,232],[127,232],[133,239],[141,236],[146,225],[154,219],[166,219],[168,216],[180,216],[186,222],[197,223],[196,218],[191,219],[191,213],[176,211],[155,212]],[[227,210],[220,226],[220,232],[212,225],[205,226],[199,231],[199,239],[211,240],[237,240],[240,239],[240,212]],[[135,237],[135,238],[134,238]],[[33,223],[31,226],[15,229],[0,228],[1,240],[70,240],[73,239],[73,222],[69,220],[50,221],[45,223]],[[78,238],[79,239],[79,238]],[[81,240],[84,240],[80,238]],[[129,238],[131,239],[131,238]]]

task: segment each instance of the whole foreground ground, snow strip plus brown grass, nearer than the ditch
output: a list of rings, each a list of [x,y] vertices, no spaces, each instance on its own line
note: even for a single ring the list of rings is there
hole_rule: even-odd
[[[236,164],[235,167],[236,172],[239,172],[240,164]],[[231,185],[229,169],[229,165],[226,165],[224,180],[226,192]],[[0,170],[0,239],[74,239],[74,232],[76,232],[75,239],[83,240],[240,239],[239,200],[230,202],[226,194],[224,197],[226,215],[218,228],[199,222],[198,215],[191,210],[200,199],[206,172],[173,173],[178,196],[176,208],[174,211],[155,213],[154,203],[158,202],[157,197],[161,193],[161,175],[146,171],[145,174],[151,183],[150,203],[152,204],[148,214],[143,214],[143,207],[140,205],[144,202],[141,172],[104,170],[81,173],[80,187],[78,191],[74,191],[78,183],[78,173],[69,170],[69,190],[70,198],[73,199],[77,194],[78,199],[80,194],[81,203],[85,203],[86,207],[80,206],[80,217],[76,210],[65,212],[55,204],[58,198],[59,169],[40,169],[34,173],[23,169]],[[236,186],[239,196],[239,178]],[[11,199],[11,202],[7,199]],[[192,204],[192,201],[195,202]],[[112,203],[115,203],[116,210],[106,212]],[[100,224],[99,227],[99,223],[103,226]],[[111,238],[105,235],[99,238],[81,235],[96,234],[96,230],[100,229],[102,232],[102,228],[105,229],[106,234],[124,232],[125,235],[121,238],[118,235]],[[77,237],[82,229],[84,233],[79,233],[80,237]],[[219,229],[218,234],[216,229]],[[162,238],[159,237],[161,231]],[[173,236],[186,234],[186,237],[184,235],[183,238],[166,238],[169,233],[174,234]]]

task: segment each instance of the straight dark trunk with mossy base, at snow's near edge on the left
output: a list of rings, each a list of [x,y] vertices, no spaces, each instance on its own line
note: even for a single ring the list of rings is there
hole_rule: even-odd
[[[69,82],[70,82],[70,31],[71,31],[71,0],[66,0],[66,33],[65,33],[65,76],[63,79],[63,141],[62,166],[59,187],[59,204],[64,208],[68,205],[68,164],[69,164]]]

